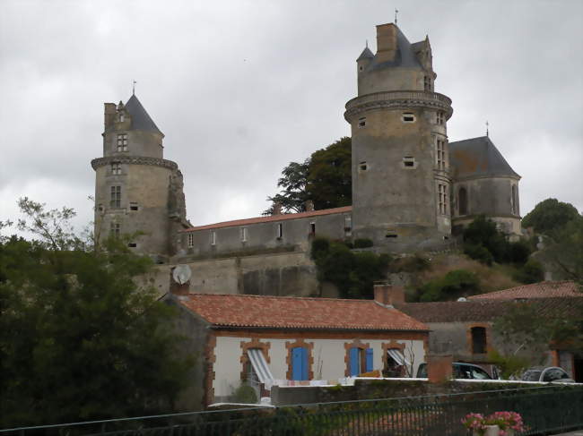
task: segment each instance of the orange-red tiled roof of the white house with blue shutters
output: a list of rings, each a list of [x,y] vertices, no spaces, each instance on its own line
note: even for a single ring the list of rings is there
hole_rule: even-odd
[[[179,301],[214,327],[428,330],[422,322],[373,300],[190,294]]]

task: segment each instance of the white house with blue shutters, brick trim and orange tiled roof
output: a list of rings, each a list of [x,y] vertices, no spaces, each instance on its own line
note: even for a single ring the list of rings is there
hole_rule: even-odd
[[[269,295],[168,295],[185,349],[197,355],[189,407],[228,401],[242,383],[336,385],[364,372],[411,375],[426,359],[429,328],[376,286],[374,300]],[[397,375],[397,374],[395,374]]]

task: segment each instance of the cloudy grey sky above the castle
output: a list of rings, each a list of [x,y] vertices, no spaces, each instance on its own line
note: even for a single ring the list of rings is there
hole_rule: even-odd
[[[0,220],[28,196],[91,221],[103,103],[136,95],[185,177],[195,225],[260,214],[293,160],[349,135],[375,25],[428,34],[449,141],[490,136],[521,209],[583,209],[583,2],[0,1]]]

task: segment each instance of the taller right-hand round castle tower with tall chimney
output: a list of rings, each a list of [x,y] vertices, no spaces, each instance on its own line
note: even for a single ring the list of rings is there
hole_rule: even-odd
[[[377,53],[357,59],[352,127],[352,234],[387,251],[444,244],[451,234],[446,122],[451,100],[434,92],[429,38],[411,44],[377,26]]]

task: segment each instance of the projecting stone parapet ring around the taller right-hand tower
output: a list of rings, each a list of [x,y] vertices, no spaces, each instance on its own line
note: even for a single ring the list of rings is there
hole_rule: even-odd
[[[361,97],[352,98],[346,103],[344,118],[350,123],[352,116],[374,109],[410,109],[412,107],[427,107],[441,109],[447,119],[453,114],[451,99],[443,94],[429,91],[396,90],[375,92]]]

